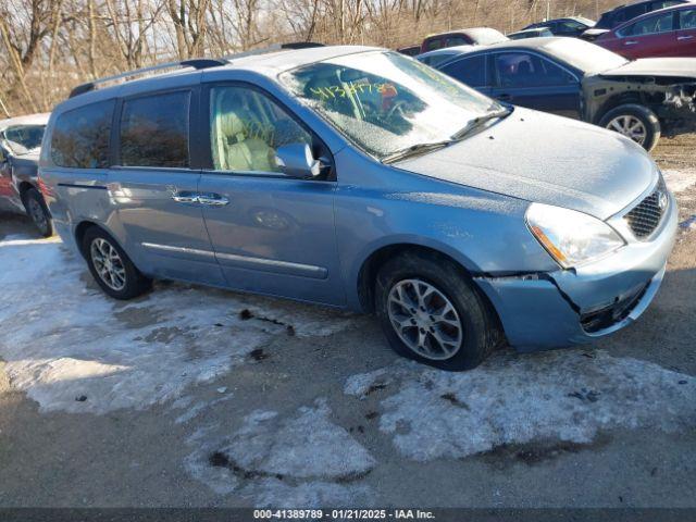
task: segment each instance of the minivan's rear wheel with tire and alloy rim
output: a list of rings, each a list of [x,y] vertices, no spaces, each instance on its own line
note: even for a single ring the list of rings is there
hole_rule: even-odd
[[[114,299],[132,299],[151,287],[152,281],[135,268],[126,252],[101,228],[89,228],[82,247],[92,277]]]

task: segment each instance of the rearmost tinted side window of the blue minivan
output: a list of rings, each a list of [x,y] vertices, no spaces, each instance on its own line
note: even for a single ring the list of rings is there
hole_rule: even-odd
[[[114,100],[64,112],[55,121],[51,160],[73,169],[109,167],[109,137]]]

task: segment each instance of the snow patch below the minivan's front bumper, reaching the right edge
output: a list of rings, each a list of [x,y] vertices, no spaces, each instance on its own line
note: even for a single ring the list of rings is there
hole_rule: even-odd
[[[465,373],[398,364],[394,372],[351,377],[346,391],[360,396],[385,372],[399,387],[381,402],[380,430],[418,461],[502,444],[589,443],[600,430],[672,431],[696,422],[695,377],[601,351],[500,353]]]

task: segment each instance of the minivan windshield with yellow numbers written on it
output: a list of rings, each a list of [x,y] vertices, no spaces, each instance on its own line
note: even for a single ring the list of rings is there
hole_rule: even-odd
[[[312,63],[283,73],[281,82],[381,160],[409,148],[459,139],[462,129],[504,110],[448,76],[390,51]]]

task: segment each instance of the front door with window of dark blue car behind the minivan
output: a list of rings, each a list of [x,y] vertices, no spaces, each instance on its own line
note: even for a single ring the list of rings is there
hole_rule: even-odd
[[[539,54],[505,51],[492,54],[490,95],[514,105],[580,117],[580,80],[575,73]]]

